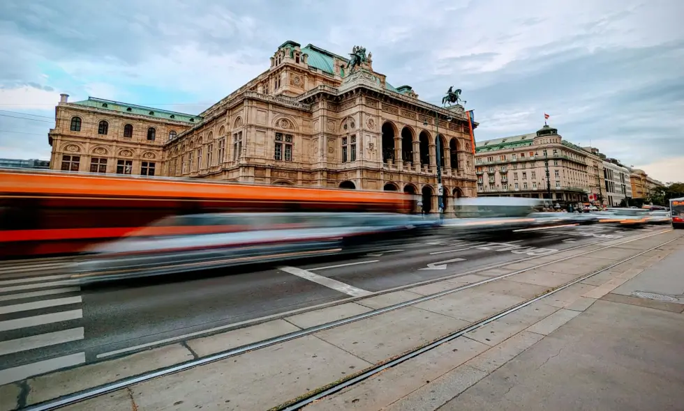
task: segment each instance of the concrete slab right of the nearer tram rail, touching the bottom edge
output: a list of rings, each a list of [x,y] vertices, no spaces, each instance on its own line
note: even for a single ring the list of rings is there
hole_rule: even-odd
[[[455,339],[392,367],[340,394],[322,398],[307,411],[380,410],[486,350],[471,339]]]

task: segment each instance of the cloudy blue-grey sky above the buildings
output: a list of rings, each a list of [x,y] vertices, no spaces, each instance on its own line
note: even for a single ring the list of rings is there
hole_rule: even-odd
[[[476,139],[550,124],[662,181],[684,181],[681,0],[2,0],[0,157],[47,159],[59,93],[196,114],[285,40],[438,102],[463,89]]]

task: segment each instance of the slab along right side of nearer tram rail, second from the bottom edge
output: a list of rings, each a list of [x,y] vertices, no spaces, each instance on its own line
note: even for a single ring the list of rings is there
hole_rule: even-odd
[[[543,302],[535,302],[503,318],[479,327],[475,331],[466,334],[466,336],[488,346],[496,346],[530,325],[537,323],[542,318],[550,316],[557,310],[556,307],[544,304]]]

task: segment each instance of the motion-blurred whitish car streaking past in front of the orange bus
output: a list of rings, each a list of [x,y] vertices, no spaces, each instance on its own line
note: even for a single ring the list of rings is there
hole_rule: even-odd
[[[388,213],[207,213],[166,217],[96,245],[71,267],[82,283],[368,252],[436,221]]]

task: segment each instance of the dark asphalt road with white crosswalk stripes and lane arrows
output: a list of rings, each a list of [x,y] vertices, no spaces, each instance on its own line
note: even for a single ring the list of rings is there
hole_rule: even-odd
[[[177,342],[216,327],[630,233],[579,226],[497,239],[422,237],[354,258],[225,268],[88,288],[62,284],[68,273],[59,266],[21,276],[0,272],[0,385],[17,370],[30,374],[56,364],[96,362],[165,339]]]

